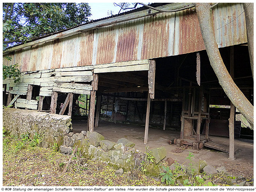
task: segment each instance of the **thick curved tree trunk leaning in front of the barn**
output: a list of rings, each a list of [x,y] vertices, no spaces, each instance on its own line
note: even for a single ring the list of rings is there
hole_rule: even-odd
[[[209,3],[193,4],[196,7],[197,17],[207,55],[212,69],[219,80],[219,84],[222,86],[230,101],[253,127],[253,105],[234,83],[219,53],[213,31],[211,5]]]

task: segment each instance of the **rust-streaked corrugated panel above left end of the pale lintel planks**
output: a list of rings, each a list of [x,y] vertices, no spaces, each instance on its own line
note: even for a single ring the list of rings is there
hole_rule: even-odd
[[[113,62],[116,33],[114,29],[114,25],[111,25],[98,30],[96,64]]]

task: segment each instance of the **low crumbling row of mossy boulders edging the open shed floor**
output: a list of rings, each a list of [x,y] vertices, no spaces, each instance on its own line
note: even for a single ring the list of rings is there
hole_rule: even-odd
[[[155,158],[154,162],[148,162],[147,154],[136,150],[134,146],[133,142],[125,138],[112,142],[105,140],[104,136],[97,132],[81,131],[67,134],[63,146],[60,146],[60,152],[71,154],[74,147],[77,147],[84,157],[103,161],[115,169],[131,170],[143,166],[144,170],[147,170],[146,174],[159,176],[162,160],[166,157],[166,149],[151,149],[151,155]]]

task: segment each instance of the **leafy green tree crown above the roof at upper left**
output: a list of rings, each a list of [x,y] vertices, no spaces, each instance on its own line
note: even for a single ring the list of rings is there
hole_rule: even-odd
[[[88,3],[3,3],[3,50],[88,22]]]

